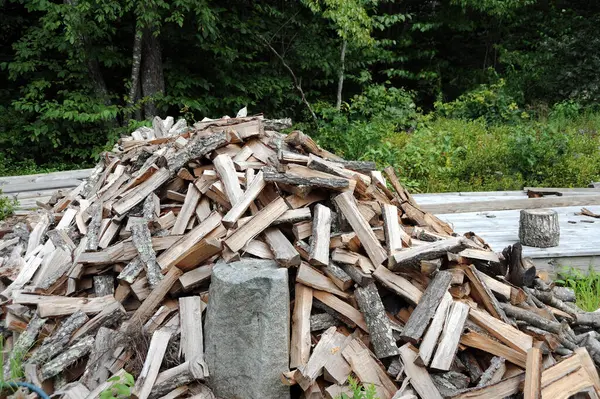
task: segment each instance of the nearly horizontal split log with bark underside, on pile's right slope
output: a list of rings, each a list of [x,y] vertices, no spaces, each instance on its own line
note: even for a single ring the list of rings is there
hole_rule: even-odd
[[[442,241],[435,241],[431,244],[408,248],[390,256],[388,267],[391,271],[406,268],[419,269],[422,260],[441,258],[448,252],[460,252],[469,245],[467,239],[464,237],[452,237]]]

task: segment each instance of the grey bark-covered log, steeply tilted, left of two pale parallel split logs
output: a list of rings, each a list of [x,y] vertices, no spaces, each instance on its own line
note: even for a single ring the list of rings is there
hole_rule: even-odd
[[[379,359],[398,355],[400,352],[392,333],[390,319],[385,313],[375,283],[366,287],[357,287],[354,296],[369,328],[369,337],[375,355]]]

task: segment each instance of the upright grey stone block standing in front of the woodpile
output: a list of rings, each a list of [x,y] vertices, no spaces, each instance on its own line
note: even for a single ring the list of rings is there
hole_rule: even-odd
[[[270,260],[220,263],[205,323],[208,385],[222,399],[285,399],[289,367],[288,271]]]

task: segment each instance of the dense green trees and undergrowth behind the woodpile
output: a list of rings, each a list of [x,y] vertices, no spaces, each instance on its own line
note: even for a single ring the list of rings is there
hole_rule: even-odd
[[[0,0],[0,175],[154,115],[292,117],[419,190],[600,179],[600,4]]]

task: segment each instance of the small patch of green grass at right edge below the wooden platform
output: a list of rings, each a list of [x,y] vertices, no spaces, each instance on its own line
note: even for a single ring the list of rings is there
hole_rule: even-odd
[[[587,312],[600,308],[600,273],[591,266],[587,274],[574,268],[565,268],[559,273],[557,284],[575,291],[577,306]]]

